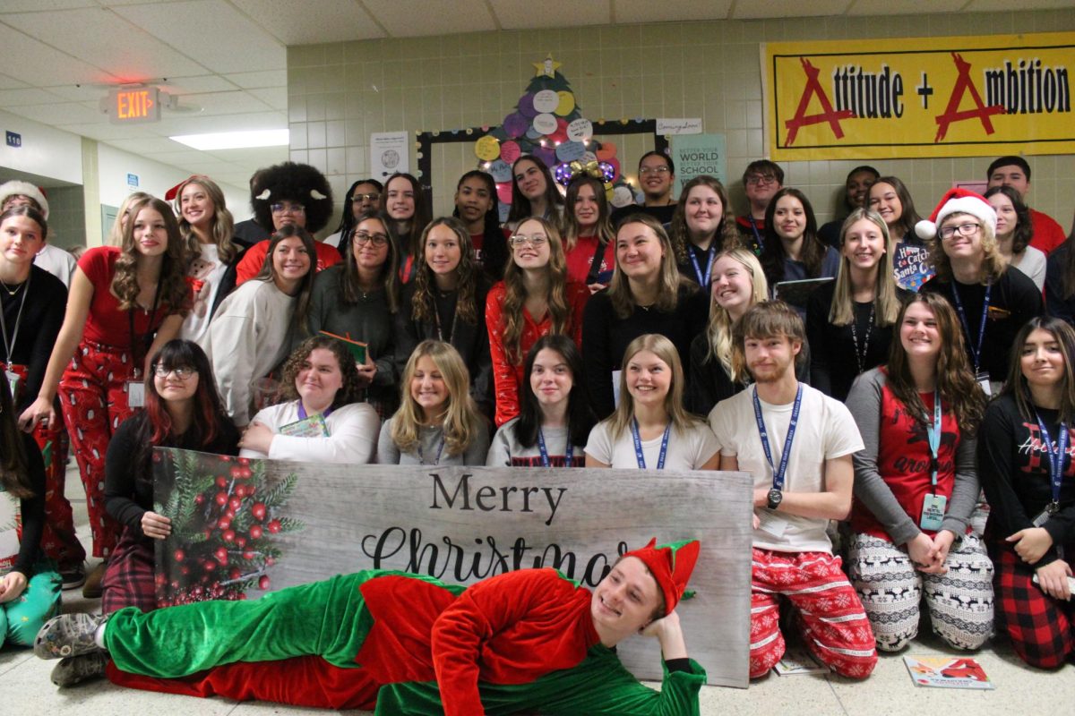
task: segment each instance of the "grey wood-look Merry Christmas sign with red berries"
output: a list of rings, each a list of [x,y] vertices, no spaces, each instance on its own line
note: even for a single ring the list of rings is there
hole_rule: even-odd
[[[751,482],[742,472],[314,465],[157,449],[161,605],[256,599],[341,572],[399,569],[470,584],[554,567],[593,587],[649,538],[702,550],[678,608],[708,683],[745,687]],[[655,639],[619,647],[660,681]]]

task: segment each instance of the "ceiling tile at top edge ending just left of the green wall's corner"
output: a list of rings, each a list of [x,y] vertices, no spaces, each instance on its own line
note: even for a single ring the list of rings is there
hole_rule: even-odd
[[[114,12],[213,72],[287,67],[281,42],[224,0],[132,5]]]

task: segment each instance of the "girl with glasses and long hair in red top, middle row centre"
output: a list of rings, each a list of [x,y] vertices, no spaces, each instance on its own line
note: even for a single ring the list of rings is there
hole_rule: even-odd
[[[589,290],[568,281],[560,232],[545,219],[526,219],[508,244],[512,260],[504,280],[489,291],[485,323],[492,355],[496,423],[519,414],[524,356],[548,333],[580,340],[583,308]]]

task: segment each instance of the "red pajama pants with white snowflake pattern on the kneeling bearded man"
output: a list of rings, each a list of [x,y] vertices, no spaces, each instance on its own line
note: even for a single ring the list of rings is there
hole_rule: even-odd
[[[784,656],[779,598],[798,610],[811,653],[842,676],[865,678],[877,663],[873,630],[862,602],[825,552],[754,549],[750,586],[750,678],[763,676]]]

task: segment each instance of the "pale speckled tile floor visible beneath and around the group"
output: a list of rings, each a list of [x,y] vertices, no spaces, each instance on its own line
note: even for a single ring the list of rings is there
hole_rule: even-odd
[[[72,498],[80,534],[88,535],[85,525],[85,498],[77,474],[69,472],[68,495]],[[84,537],[85,538],[85,537]],[[77,597],[69,597],[77,595]],[[97,600],[83,599],[78,591],[67,593],[64,611],[99,609]],[[904,654],[955,654],[932,637],[920,637]],[[1075,711],[1075,667],[1054,673],[1026,667],[1004,640],[997,640],[976,655],[992,678],[995,690],[968,691],[919,688],[912,684],[902,655],[882,656],[873,675],[864,682],[851,682],[835,675],[776,676],[755,683],[748,689],[706,687],[702,689],[703,716],[728,716],[754,713],[765,716],[789,714],[872,714],[915,713],[945,716],[960,714],[1065,714]],[[196,700],[123,689],[104,681],[71,689],[57,689],[48,681],[55,662],[35,659],[29,649],[0,651],[0,684],[3,698],[0,714],[19,716],[80,716],[99,714],[169,713],[184,716],[268,716],[269,714],[324,714],[324,711],[292,708],[262,703],[235,703],[223,699]],[[362,713],[362,712],[348,712]]]

